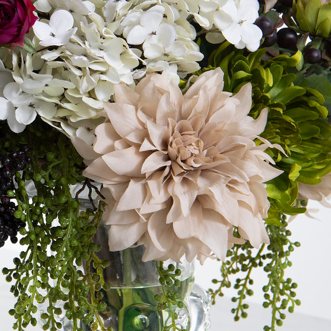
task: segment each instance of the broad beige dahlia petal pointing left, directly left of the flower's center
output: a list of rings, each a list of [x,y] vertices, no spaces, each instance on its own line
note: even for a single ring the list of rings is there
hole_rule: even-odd
[[[141,167],[148,155],[148,152],[139,152],[137,148],[132,146],[125,150],[105,154],[102,156],[102,159],[116,174],[143,177]]]

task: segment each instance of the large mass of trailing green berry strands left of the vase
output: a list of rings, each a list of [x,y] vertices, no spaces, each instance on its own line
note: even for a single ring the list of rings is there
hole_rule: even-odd
[[[8,192],[18,204],[16,216],[27,223],[27,228],[20,229],[23,250],[14,259],[15,266],[3,269],[6,280],[14,282],[11,292],[17,297],[10,311],[16,319],[13,328],[21,331],[36,325],[37,303],[45,301],[48,309],[41,316],[43,329],[62,328],[56,316],[63,313],[57,304],[63,301],[73,331],[82,331],[79,320],[93,322],[91,328],[111,331],[103,326],[99,312],[105,303],[95,293],[107,287],[102,276],[105,262],[96,255],[101,247],[92,242],[102,204],[96,210],[80,212],[80,203],[70,192],[70,184],[85,180],[81,157],[67,137],[42,121],[35,121],[20,134],[11,132],[4,121],[0,125],[1,148],[14,151],[20,144],[28,144],[32,149],[30,168],[14,175],[16,188]],[[30,185],[35,189],[32,197],[27,191]],[[87,185],[92,190],[89,182]],[[97,270],[96,279],[89,272],[91,264]]]

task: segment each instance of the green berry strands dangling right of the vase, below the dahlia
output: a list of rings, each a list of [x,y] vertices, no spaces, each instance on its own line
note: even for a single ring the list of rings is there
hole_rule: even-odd
[[[231,299],[235,303],[231,313],[234,314],[235,321],[246,318],[249,305],[245,300],[247,296],[253,295],[250,289],[253,285],[251,273],[254,268],[264,267],[264,271],[268,273],[268,283],[263,287],[266,300],[263,306],[272,310],[271,326],[265,326],[266,331],[275,331],[276,325],[282,324],[282,320],[286,317],[283,311],[288,309],[290,313],[293,313],[294,306],[300,305],[300,301],[295,299],[297,284],[285,277],[285,269],[292,265],[289,261],[290,253],[300,244],[289,240],[291,232],[286,229],[288,224],[285,216],[282,216],[279,222],[281,226],[267,226],[270,245],[263,244],[256,254],[252,254],[253,247],[249,243],[234,245],[228,250],[227,259],[221,265],[222,278],[212,280],[213,283],[219,284],[219,288],[209,289],[211,302],[215,304],[216,297],[224,296],[224,289],[230,288],[233,283],[233,288],[238,290],[238,295]],[[238,274],[242,276],[238,277]],[[232,280],[234,277],[237,277],[235,281]]]

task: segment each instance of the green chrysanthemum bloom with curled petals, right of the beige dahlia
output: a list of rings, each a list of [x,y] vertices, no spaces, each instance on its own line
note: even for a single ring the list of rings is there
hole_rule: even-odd
[[[265,52],[257,50],[246,57],[242,50],[233,51],[224,42],[211,54],[209,65],[222,68],[227,91],[235,93],[244,84],[252,84],[250,115],[254,119],[263,108],[268,108],[268,122],[261,137],[281,146],[286,155],[277,149],[266,151],[274,159],[275,167],[283,171],[267,183],[271,207],[266,222],[280,225],[280,215],[305,212],[304,207],[294,205],[298,183],[317,184],[331,171],[331,128],[326,122],[323,95],[310,87],[325,80],[312,76],[295,85],[301,53],[291,57],[279,55],[263,62]],[[326,85],[322,91],[328,97],[331,89]]]

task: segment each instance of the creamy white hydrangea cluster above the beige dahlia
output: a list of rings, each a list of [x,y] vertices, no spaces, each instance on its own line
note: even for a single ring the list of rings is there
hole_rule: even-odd
[[[36,52],[0,50],[0,120],[19,133],[39,115],[87,144],[116,84],[134,88],[152,72],[178,84],[200,68],[193,21],[210,31],[212,42],[221,36],[253,50],[262,36],[251,25],[257,0],[38,0],[34,6],[38,20],[29,38]]]

